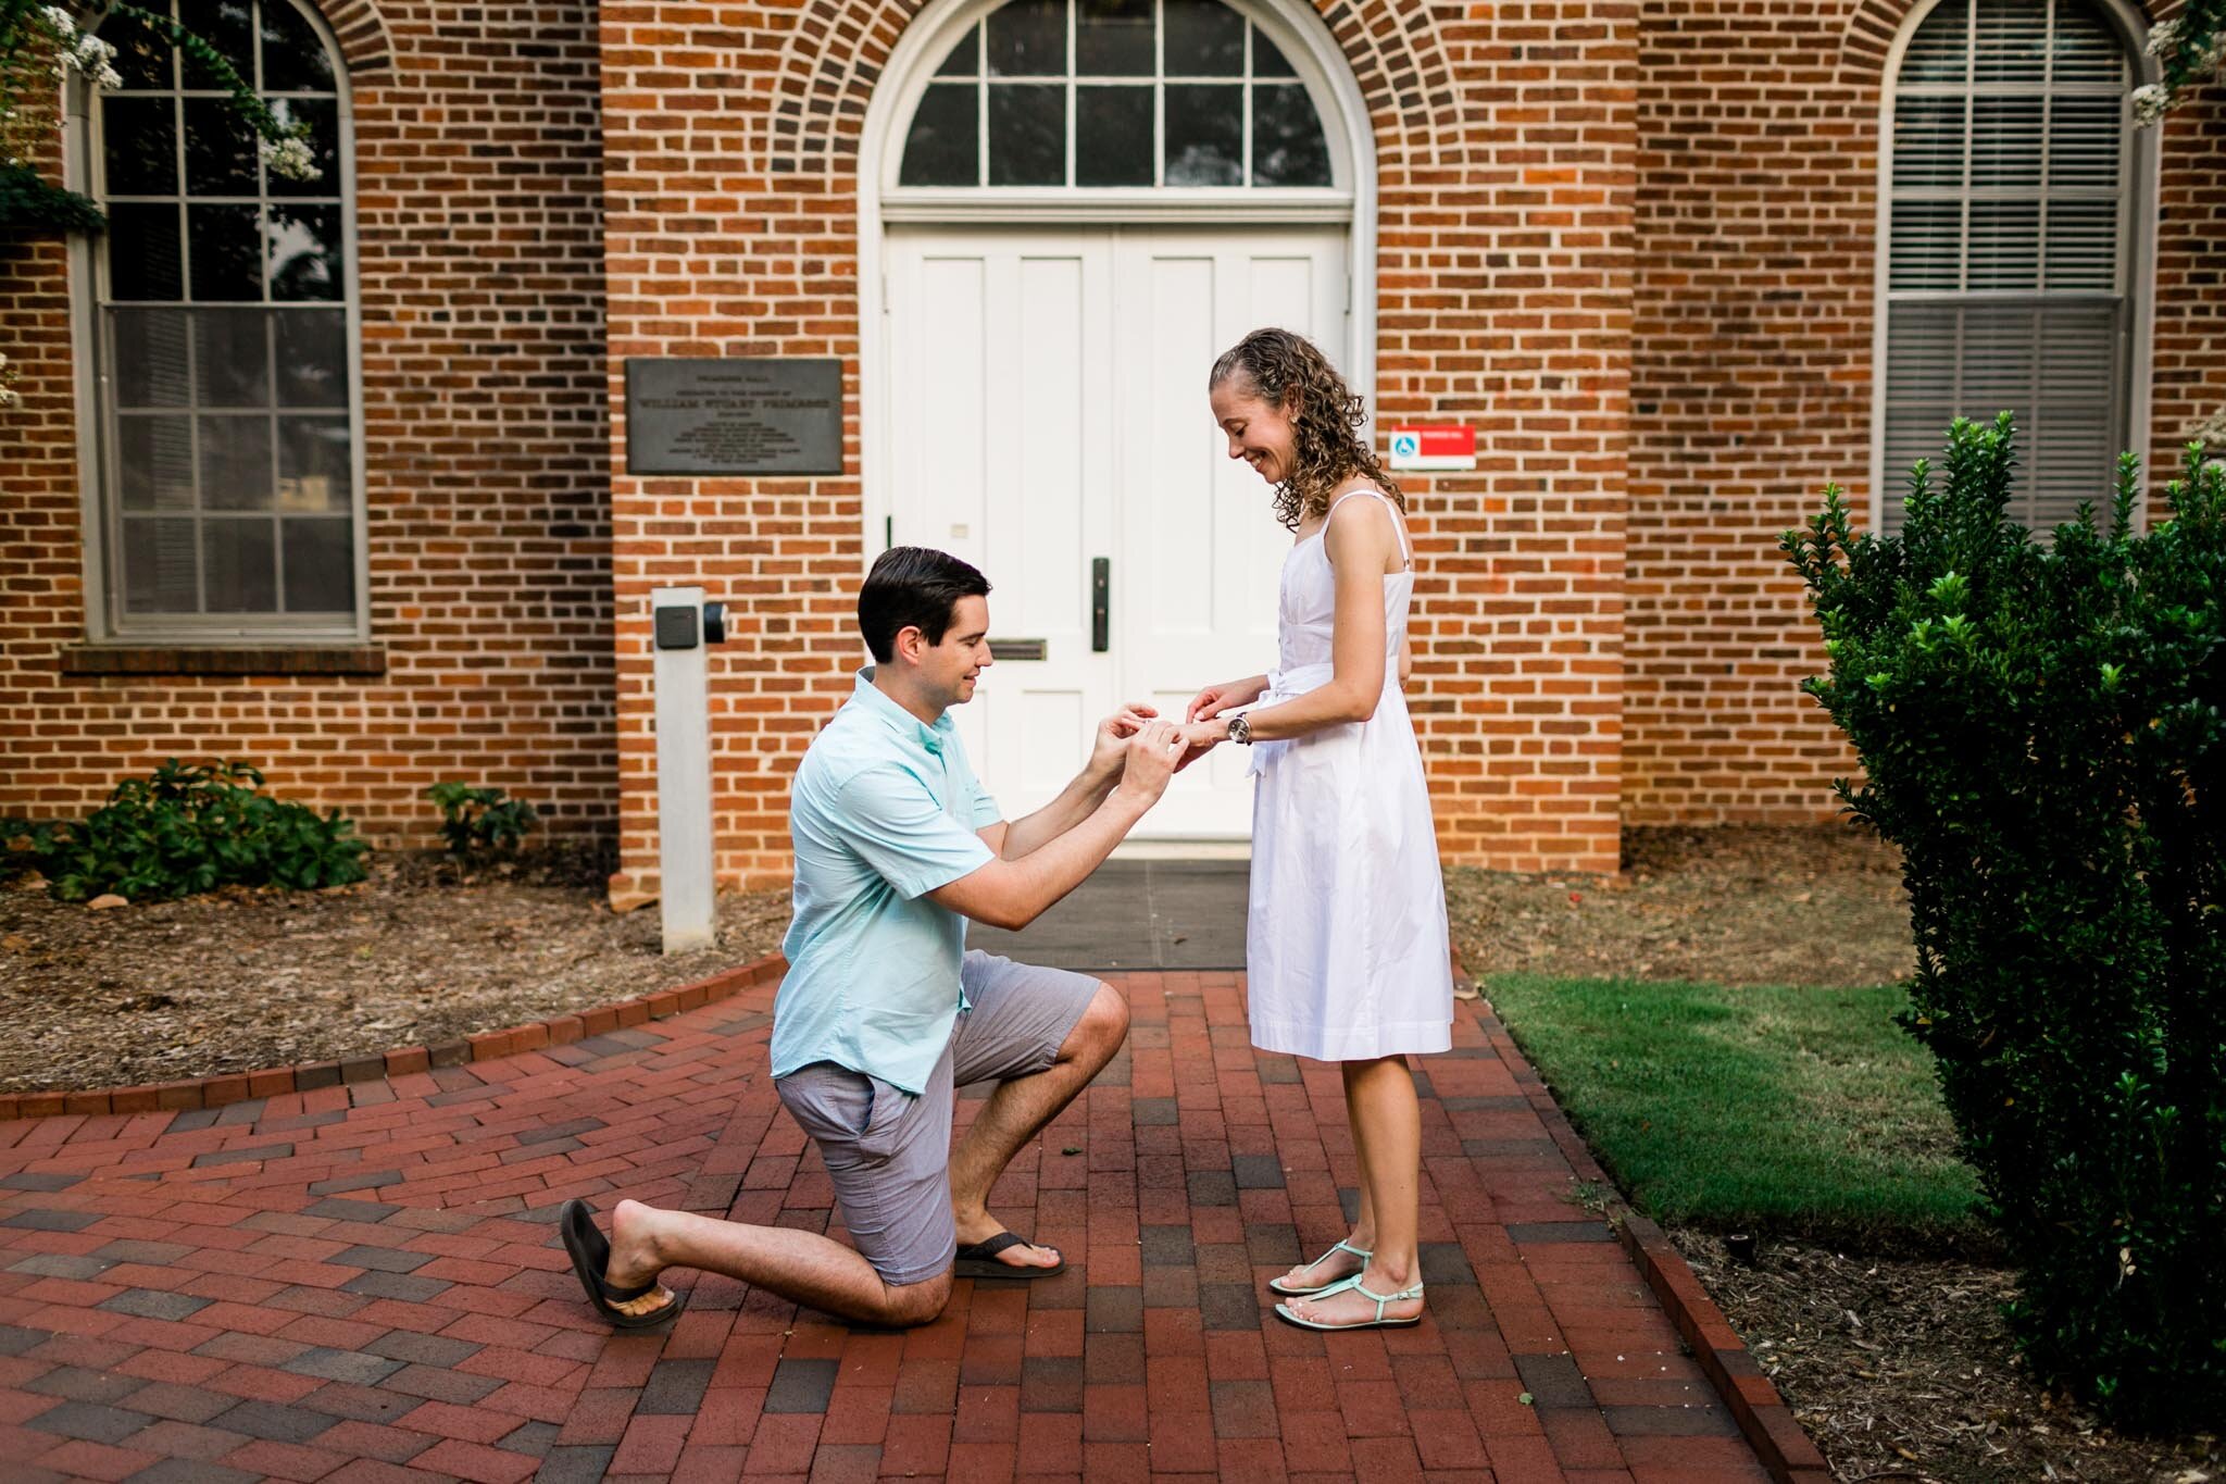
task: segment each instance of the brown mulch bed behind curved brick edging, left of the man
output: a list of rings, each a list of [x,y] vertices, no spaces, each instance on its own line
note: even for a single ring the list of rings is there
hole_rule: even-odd
[[[0,1092],[120,1088],[434,1046],[695,983],[779,950],[788,892],[719,899],[719,941],[659,952],[594,852],[461,872],[383,852],[325,892],[102,912],[0,888]]]

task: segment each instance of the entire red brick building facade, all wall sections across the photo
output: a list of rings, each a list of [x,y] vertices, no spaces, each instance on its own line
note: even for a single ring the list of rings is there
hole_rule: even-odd
[[[732,601],[719,872],[788,868],[848,690],[857,158],[910,0],[332,0],[356,96],[376,676],[69,674],[82,641],[65,251],[0,243],[0,812],[171,752],[430,839],[490,781],[617,819],[654,892],[648,590]],[[1378,165],[1378,412],[1467,421],[1407,481],[1414,710],[1447,861],[1612,870],[1621,819],[1830,814],[1850,759],[1776,536],[1868,489],[1877,107],[1905,0],[1324,4]],[[601,107],[599,89],[601,87]],[[2226,405],[2226,89],[2166,129],[2153,467]],[[608,303],[605,303],[608,300]],[[608,329],[605,329],[608,314]],[[850,472],[623,469],[628,356],[846,363]]]

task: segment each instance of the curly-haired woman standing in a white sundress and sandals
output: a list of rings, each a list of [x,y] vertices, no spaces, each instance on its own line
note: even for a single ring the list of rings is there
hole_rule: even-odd
[[[1213,365],[1229,456],[1275,487],[1278,667],[1191,701],[1191,754],[1251,743],[1247,983],[1253,1046],[1336,1061],[1360,1219],[1269,1288],[1307,1328],[1422,1317],[1422,1112],[1407,1057],[1451,1046],[1445,883],[1407,719],[1414,545],[1362,403],[1309,340],[1258,329]],[[1242,708],[1242,712],[1240,712]]]

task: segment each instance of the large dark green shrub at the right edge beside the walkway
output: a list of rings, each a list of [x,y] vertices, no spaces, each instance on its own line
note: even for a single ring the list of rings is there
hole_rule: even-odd
[[[1839,489],[1785,552],[1830,674],[1805,690],[1903,852],[1932,1048],[2043,1375],[2135,1426],[2226,1417],[2226,469],[2133,530],[2119,463],[2041,545],[2003,521],[2008,414],[1919,463],[1899,536]]]

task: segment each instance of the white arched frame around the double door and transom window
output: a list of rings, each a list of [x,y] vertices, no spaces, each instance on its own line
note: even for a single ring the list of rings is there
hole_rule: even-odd
[[[1376,405],[1376,133],[1360,82],[1322,18],[1304,0],[1227,0],[1249,16],[1307,82],[1329,142],[1333,191],[1086,191],[1086,189],[977,189],[897,191],[895,167],[928,73],[966,27],[1002,0],[928,0],[904,27],[881,80],[866,105],[857,154],[857,360],[859,360],[859,536],[864,565],[881,554],[890,518],[888,407],[893,367],[888,294],[884,287],[884,229],[904,220],[966,222],[1291,222],[1345,220],[1351,274],[1347,318],[1347,383]],[[890,200],[884,200],[888,196]]]

